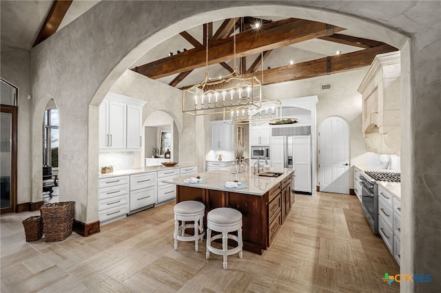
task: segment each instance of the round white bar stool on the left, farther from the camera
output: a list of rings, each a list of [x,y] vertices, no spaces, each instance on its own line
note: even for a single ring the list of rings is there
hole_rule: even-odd
[[[194,241],[194,250],[199,249],[199,239],[203,239],[205,235],[204,231],[204,215],[205,205],[202,202],[196,202],[194,200],[187,200],[185,202],[179,202],[174,206],[174,250],[178,249],[179,241]],[[182,225],[179,226],[179,221],[182,221]],[[185,224],[185,221],[194,221],[194,224]],[[194,228],[193,236],[185,236],[186,228]],[[181,235],[179,235],[181,232]]]

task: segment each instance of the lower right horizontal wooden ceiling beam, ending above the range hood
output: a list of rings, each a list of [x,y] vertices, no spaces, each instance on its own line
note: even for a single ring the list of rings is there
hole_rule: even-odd
[[[330,69],[327,68],[327,57],[293,65],[271,68],[263,72],[263,81],[264,85],[270,85],[273,83],[284,83],[291,80],[300,80],[317,76],[325,76],[327,74],[346,72],[371,65],[373,58],[375,58],[377,54],[394,52],[397,50],[397,48],[390,45],[381,45],[357,52],[331,56],[329,57],[331,65]],[[252,72],[250,74],[243,75],[243,77],[251,76],[260,78],[260,76],[262,76],[262,72]]]

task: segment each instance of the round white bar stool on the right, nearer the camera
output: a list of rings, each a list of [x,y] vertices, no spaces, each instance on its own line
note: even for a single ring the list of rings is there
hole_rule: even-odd
[[[222,234],[212,237],[212,230],[222,232]],[[237,236],[228,234],[237,231]],[[222,238],[222,249],[214,248],[212,241]],[[228,239],[233,239],[238,243],[235,248],[228,249]],[[227,270],[227,257],[239,252],[239,258],[242,258],[242,213],[234,208],[215,208],[210,210],[207,215],[207,252],[206,257],[209,259],[209,252],[223,256],[223,269]]]

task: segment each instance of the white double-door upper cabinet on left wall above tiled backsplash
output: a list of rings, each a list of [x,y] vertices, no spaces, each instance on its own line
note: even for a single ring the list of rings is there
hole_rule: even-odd
[[[145,101],[109,93],[99,107],[99,149],[140,151]]]

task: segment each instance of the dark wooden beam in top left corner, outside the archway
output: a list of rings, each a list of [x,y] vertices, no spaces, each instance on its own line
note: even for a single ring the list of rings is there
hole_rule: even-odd
[[[61,21],[63,21],[66,12],[68,12],[70,4],[72,4],[72,0],[55,0],[54,3],[52,3],[52,7],[50,8],[48,16],[43,23],[43,27],[41,27],[39,35],[37,36],[37,39],[35,39],[32,47],[35,47],[57,32]]]

